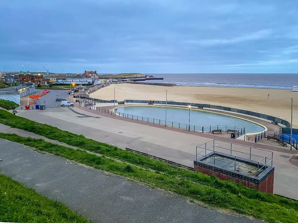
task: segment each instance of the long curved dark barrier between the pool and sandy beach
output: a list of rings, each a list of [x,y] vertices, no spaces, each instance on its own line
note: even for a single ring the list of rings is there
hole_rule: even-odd
[[[129,103],[142,103],[142,104],[149,104],[150,101],[148,100],[124,100],[125,104]],[[166,104],[166,101],[154,101],[154,104]],[[180,105],[180,106],[193,106],[193,107],[205,107],[205,108],[211,108],[211,109],[218,109],[218,110],[224,110],[224,111],[229,111],[229,112],[236,112],[244,115],[249,115],[249,116],[255,116],[258,118],[263,118],[267,119],[269,121],[277,121],[278,123],[284,125],[284,126],[289,126],[290,123],[284,119],[277,118],[274,116],[269,116],[266,114],[262,113],[257,113],[253,111],[248,111],[248,110],[242,110],[238,108],[231,108],[231,107],[224,107],[224,106],[219,106],[219,105],[209,105],[209,104],[198,104],[198,103],[187,103],[187,102],[167,102],[168,105]]]

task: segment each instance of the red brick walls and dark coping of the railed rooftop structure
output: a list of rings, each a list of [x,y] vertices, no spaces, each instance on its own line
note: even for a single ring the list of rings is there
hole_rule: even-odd
[[[213,155],[211,152],[207,156]],[[222,153],[216,152],[217,155],[223,156]],[[229,157],[229,155],[224,155]],[[207,157],[201,157],[200,159],[194,160],[194,171],[201,172],[208,176],[216,176],[220,180],[231,180],[235,183],[240,183],[248,188],[256,189],[260,192],[273,194],[274,187],[274,167],[268,166],[266,171],[263,171],[259,174],[259,177],[250,176],[249,174],[244,174],[241,172],[230,171],[228,169],[224,169],[222,167],[209,165],[207,163],[203,163],[202,161]],[[252,160],[246,160],[240,157],[237,157],[238,161],[243,163],[249,163],[254,165],[255,162]]]

